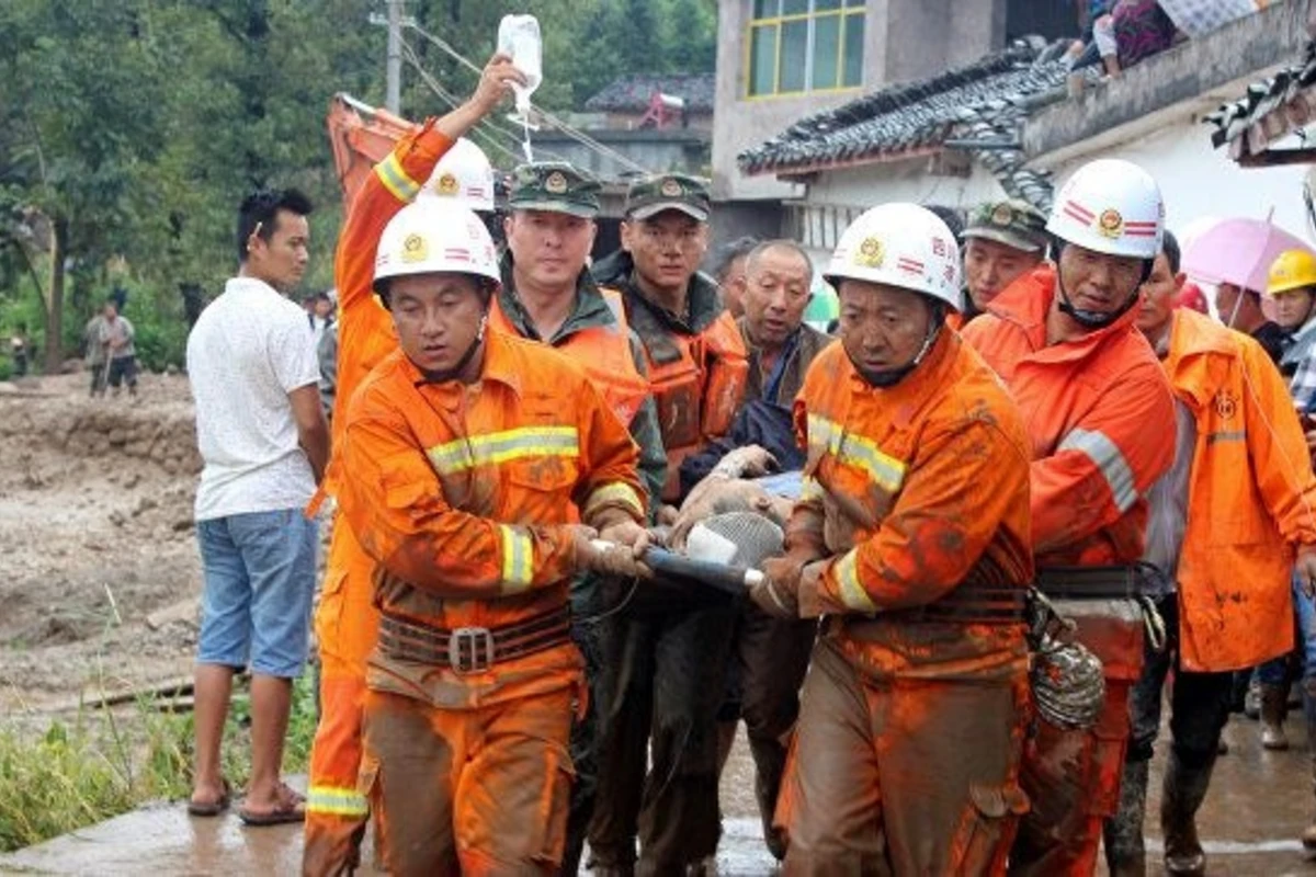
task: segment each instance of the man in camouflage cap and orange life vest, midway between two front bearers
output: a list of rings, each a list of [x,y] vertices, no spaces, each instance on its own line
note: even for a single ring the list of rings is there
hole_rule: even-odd
[[[642,178],[626,195],[622,250],[594,267],[599,283],[621,291],[640,337],[667,452],[662,500],[674,505],[682,460],[730,429],[749,371],[736,321],[696,272],[709,212],[700,180]],[[696,597],[632,604],[609,619],[590,823],[596,873],[632,873],[637,832],[641,873],[683,873],[716,852],[716,715],[734,615],[728,600]]]

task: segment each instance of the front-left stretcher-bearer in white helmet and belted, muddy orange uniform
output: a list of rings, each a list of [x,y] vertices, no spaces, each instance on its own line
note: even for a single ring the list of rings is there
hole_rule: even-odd
[[[567,589],[646,575],[634,442],[579,366],[486,333],[497,285],[468,208],[384,227],[400,350],[349,405],[338,501],[376,564],[359,789],[392,874],[557,872],[583,684]]]

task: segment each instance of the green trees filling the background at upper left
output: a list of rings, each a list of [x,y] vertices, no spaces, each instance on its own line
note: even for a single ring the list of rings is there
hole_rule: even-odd
[[[386,32],[368,22],[382,11],[382,0],[0,4],[0,333],[26,321],[34,343],[61,342],[58,363],[122,281],[143,363],[182,364],[180,288],[222,288],[234,212],[255,187],[312,197],[305,284],[332,285],[342,206],[324,116],[340,91],[383,103]],[[405,11],[476,63],[503,14],[537,14],[536,100],[551,110],[578,109],[622,74],[713,68],[713,0],[408,0]],[[404,39],[443,88],[470,93],[474,72],[415,30]],[[404,116],[450,109],[407,66],[403,82]],[[496,163],[516,160],[476,137]]]

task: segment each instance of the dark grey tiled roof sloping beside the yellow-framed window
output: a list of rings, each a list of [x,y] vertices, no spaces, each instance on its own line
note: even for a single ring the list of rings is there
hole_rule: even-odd
[[[751,175],[805,174],[966,149],[1011,196],[1049,206],[1049,176],[1024,168],[1019,137],[1029,113],[1065,97],[1067,45],[1048,45],[1037,37],[1016,39],[1005,50],[958,70],[891,85],[804,118],[741,153],[737,160]]]

